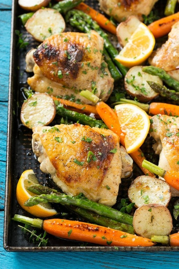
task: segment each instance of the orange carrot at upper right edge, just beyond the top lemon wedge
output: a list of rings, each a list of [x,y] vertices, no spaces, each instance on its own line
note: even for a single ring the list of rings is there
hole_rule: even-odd
[[[171,27],[174,23],[178,22],[179,20],[179,12],[164,17],[162,19],[156,20],[148,25],[149,29],[151,30],[152,34],[155,38],[165,36],[171,31]]]

